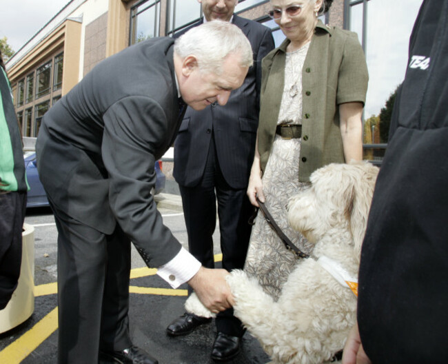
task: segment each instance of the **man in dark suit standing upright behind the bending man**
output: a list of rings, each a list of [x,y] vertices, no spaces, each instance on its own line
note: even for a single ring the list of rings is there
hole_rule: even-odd
[[[212,234],[218,199],[223,268],[241,269],[250,239],[247,221],[253,211],[246,190],[258,128],[261,59],[274,48],[274,39],[269,28],[234,14],[238,0],[198,1],[204,19],[190,28],[216,19],[230,21],[249,39],[254,65],[227,105],[187,109],[174,144],[174,178],[181,190],[190,252],[204,267],[214,267]],[[189,334],[207,322],[210,319],[185,313],[167,327],[167,334]],[[244,330],[232,309],[218,314],[216,329],[212,358],[225,361],[238,354]]]

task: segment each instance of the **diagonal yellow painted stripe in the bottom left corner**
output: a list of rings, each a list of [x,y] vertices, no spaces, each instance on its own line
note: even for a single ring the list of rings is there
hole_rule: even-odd
[[[58,309],[52,310],[25,334],[0,352],[0,363],[19,364],[58,327]]]

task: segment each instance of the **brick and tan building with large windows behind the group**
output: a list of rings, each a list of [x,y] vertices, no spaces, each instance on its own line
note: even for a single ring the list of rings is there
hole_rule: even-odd
[[[303,2],[305,0],[299,0]],[[358,33],[369,67],[365,119],[380,114],[404,79],[409,34],[422,0],[334,0],[325,23]],[[240,0],[236,13],[272,28],[269,0]],[[201,17],[197,0],[71,0],[6,63],[22,134],[35,138],[45,112],[94,65],[136,42],[170,37]],[[376,125],[377,130],[381,122]],[[370,135],[370,136],[369,136]],[[385,143],[365,135],[366,157],[381,159]],[[372,152],[371,149],[376,150]],[[379,151],[379,152],[378,152]]]

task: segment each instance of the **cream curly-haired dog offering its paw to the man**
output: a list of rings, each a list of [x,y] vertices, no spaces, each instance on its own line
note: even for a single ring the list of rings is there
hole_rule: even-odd
[[[357,282],[377,174],[367,162],[329,164],[289,201],[290,225],[315,246],[310,258],[298,261],[278,301],[241,270],[227,277],[235,315],[272,363],[323,363],[343,349],[356,321],[356,296],[346,281]],[[214,316],[194,295],[185,308]]]

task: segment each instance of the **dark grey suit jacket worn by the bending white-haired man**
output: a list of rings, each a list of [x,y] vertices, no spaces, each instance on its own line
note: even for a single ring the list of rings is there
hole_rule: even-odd
[[[45,114],[36,145],[54,207],[105,234],[118,222],[156,267],[181,250],[150,193],[181,122],[173,44],[151,39],[96,65]]]

